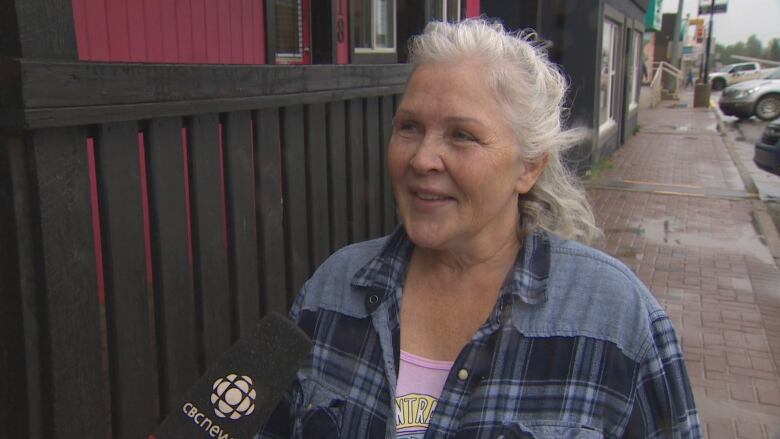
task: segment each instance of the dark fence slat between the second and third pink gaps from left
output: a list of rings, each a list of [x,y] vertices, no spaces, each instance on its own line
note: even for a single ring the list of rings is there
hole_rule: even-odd
[[[174,391],[166,399],[174,402],[183,397],[176,392],[199,375],[181,127],[180,118],[153,119],[147,131],[158,352],[165,382]]]

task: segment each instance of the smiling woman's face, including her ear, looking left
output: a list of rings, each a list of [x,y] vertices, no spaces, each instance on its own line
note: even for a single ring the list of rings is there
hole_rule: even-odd
[[[514,236],[517,196],[541,171],[524,166],[483,77],[477,62],[424,64],[396,112],[388,166],[401,218],[418,246],[468,249]]]

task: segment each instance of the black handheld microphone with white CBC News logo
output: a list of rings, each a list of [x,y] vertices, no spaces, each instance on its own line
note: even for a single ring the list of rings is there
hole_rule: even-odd
[[[254,335],[239,339],[220,356],[149,439],[254,437],[311,347],[292,321],[269,314]]]

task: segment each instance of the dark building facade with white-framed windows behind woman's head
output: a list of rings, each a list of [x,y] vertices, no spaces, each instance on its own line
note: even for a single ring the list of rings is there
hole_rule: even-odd
[[[609,157],[637,126],[646,0],[482,0],[513,29],[536,29],[571,83],[571,126],[590,138],[569,155],[582,172]]]

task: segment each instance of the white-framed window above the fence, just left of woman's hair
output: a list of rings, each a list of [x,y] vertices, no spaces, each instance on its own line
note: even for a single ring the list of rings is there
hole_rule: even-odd
[[[395,0],[353,3],[355,52],[395,52]]]

